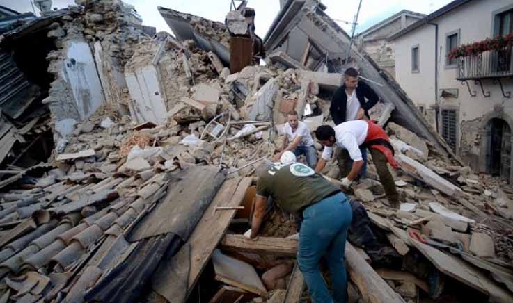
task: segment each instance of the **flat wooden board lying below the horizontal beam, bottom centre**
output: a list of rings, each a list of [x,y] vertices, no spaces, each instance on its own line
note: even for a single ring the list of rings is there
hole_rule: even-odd
[[[250,264],[226,256],[219,249],[212,254],[212,263],[216,272],[216,281],[247,290],[250,293],[267,297],[267,290]]]

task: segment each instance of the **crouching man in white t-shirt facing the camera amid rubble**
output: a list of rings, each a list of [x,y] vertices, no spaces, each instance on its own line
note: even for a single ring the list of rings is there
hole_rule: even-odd
[[[282,151],[274,157],[275,161],[278,161],[285,151],[292,151],[296,156],[305,155],[308,166],[314,168],[317,164],[317,151],[308,125],[297,120],[295,111],[288,113],[287,118],[288,122],[283,127],[285,138]]]

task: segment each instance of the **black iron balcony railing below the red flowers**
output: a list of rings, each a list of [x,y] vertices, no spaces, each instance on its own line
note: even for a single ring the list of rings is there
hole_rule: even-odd
[[[513,76],[513,47],[457,58],[457,80],[497,79]]]

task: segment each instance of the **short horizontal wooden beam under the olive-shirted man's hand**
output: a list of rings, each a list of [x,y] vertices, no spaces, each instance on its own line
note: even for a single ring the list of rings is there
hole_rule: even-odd
[[[244,235],[227,234],[221,241],[221,248],[237,252],[295,256],[297,253],[297,240],[274,237],[258,237],[256,240],[250,240]]]

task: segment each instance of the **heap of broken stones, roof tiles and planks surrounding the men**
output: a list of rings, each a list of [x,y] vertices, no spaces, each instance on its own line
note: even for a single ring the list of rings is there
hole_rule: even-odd
[[[119,59],[127,88],[93,115],[77,114],[47,163],[0,181],[0,302],[309,302],[294,218],[273,206],[257,240],[242,233],[253,164],[276,154],[290,110],[312,131],[332,123],[329,88],[340,74],[278,63],[230,74],[192,40],[129,38],[108,2],[84,3],[82,17],[52,31],[56,41],[60,31],[92,44],[108,37],[104,56]],[[214,28],[189,22],[203,35]],[[210,38],[229,48],[216,26]],[[63,49],[49,58],[55,72]],[[390,108],[380,103],[371,118],[395,147],[402,204],[388,205],[373,165],[347,192],[390,247],[376,258],[349,237],[349,302],[512,302],[513,190],[395,124]],[[343,177],[333,161],[323,173]]]

